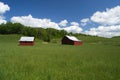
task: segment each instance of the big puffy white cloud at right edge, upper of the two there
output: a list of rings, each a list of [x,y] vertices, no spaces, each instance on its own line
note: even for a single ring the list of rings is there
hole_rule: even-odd
[[[103,12],[97,11],[93,14],[91,20],[101,25],[120,24],[120,6],[116,6],[111,9],[106,9],[106,11]]]

